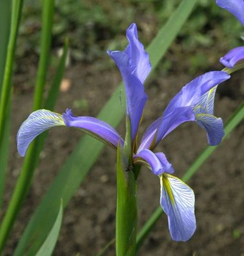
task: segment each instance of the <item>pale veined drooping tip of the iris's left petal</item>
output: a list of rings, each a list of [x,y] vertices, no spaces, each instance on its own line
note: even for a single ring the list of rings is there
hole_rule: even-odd
[[[22,123],[17,133],[17,150],[19,155],[25,156],[28,145],[37,135],[59,125],[65,125],[61,114],[46,109],[40,109],[30,114],[25,122]]]

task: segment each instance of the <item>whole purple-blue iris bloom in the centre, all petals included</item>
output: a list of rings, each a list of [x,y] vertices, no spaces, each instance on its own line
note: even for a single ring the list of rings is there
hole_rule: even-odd
[[[196,229],[194,215],[194,193],[184,182],[172,176],[174,168],[163,153],[153,149],[168,133],[178,125],[188,121],[197,122],[207,131],[208,143],[217,145],[223,138],[223,122],[213,114],[214,94],[219,83],[228,80],[222,71],[212,71],[199,76],[185,85],[170,101],[163,114],[145,131],[141,144],[135,142],[143,109],[147,101],[143,83],[151,65],[147,52],[139,42],[136,24],[127,29],[128,47],[122,51],[108,51],[125,82],[127,117],[130,121],[131,142],[134,145],[133,164],[145,165],[159,176],[161,184],[160,204],[168,216],[168,226],[172,239],[186,241]],[[116,149],[124,141],[117,131],[101,120],[90,116],[73,116],[69,109],[61,115],[41,109],[30,114],[17,134],[17,149],[24,156],[30,142],[50,127],[66,125],[77,127]]]

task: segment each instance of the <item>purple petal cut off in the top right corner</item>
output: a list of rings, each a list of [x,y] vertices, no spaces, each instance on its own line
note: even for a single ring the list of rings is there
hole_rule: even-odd
[[[243,0],[216,0],[216,4],[233,14],[244,25],[244,1]]]

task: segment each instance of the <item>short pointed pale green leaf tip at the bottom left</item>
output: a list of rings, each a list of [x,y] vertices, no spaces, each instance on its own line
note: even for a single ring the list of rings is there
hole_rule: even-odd
[[[46,237],[46,240],[43,242],[43,245],[37,251],[36,256],[52,255],[57,239],[59,237],[59,231],[61,228],[62,219],[63,219],[63,203],[61,201],[59,213],[57,214],[57,218],[56,218],[56,221],[54,222],[54,226],[52,226],[52,229],[48,234],[48,237]]]

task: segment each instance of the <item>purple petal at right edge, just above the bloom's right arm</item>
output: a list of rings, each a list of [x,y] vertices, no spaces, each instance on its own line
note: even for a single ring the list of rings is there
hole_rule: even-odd
[[[244,4],[244,1],[243,1]],[[244,15],[244,14],[243,14]],[[230,69],[234,68],[234,65],[244,59],[244,47],[236,47],[230,50],[225,56],[219,59],[219,61]]]

